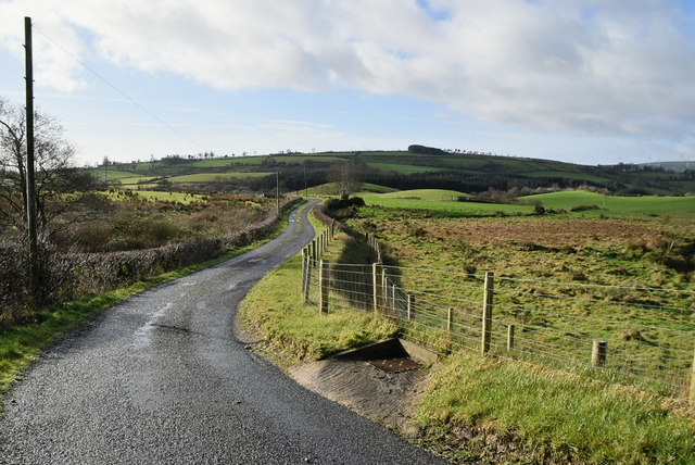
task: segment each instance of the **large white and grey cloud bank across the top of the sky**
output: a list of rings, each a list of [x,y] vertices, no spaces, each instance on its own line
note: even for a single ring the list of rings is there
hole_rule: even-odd
[[[540,129],[679,139],[695,122],[695,43],[674,0],[14,0],[76,54],[222,89],[346,86]],[[25,13],[20,13],[24,12]],[[438,17],[432,17],[435,12]],[[86,34],[86,32],[88,34]],[[43,83],[79,66],[43,40]],[[37,79],[38,80],[38,79]]]

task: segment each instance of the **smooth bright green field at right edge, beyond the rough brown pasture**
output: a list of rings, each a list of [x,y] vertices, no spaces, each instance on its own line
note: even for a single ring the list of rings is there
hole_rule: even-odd
[[[585,191],[553,192],[519,198],[533,204],[541,202],[546,209],[567,210],[582,205],[596,205],[582,215],[591,216],[678,216],[695,217],[695,197],[615,197]]]

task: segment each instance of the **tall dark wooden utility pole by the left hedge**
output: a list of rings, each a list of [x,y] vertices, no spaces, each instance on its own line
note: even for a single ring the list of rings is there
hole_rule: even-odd
[[[26,224],[29,240],[29,274],[31,292],[39,284],[38,232],[36,217],[36,179],[34,176],[34,66],[31,18],[24,17],[24,49],[26,64]]]

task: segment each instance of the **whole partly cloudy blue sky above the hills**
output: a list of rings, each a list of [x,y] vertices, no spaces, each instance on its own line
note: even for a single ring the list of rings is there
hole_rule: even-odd
[[[695,160],[695,0],[0,0],[0,97],[79,165],[406,150]]]

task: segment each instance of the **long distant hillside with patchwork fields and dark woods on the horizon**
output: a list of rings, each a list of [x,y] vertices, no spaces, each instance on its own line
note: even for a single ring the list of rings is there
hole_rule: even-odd
[[[399,190],[446,189],[467,193],[497,190],[518,194],[589,187],[621,194],[695,192],[694,171],[675,173],[664,167],[626,164],[587,166],[552,160],[433,151],[422,146],[410,149],[206,159],[173,155],[160,161],[99,166],[94,174],[124,186],[273,192],[277,172],[281,190],[288,192],[324,185],[330,180],[331,169],[334,171],[338,163],[354,163],[365,183]]]

